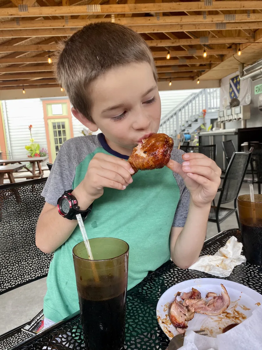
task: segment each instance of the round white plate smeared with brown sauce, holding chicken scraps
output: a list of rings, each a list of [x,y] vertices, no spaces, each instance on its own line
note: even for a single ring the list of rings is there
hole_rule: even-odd
[[[177,292],[190,292],[196,288],[204,299],[206,293],[214,292],[221,295],[222,283],[230,296],[230,306],[219,316],[196,314],[188,322],[188,330],[208,330],[212,337],[222,333],[223,328],[231,323],[241,323],[252,315],[253,310],[262,304],[262,295],[255,290],[239,283],[218,278],[198,278],[177,283],[163,293],[157,304],[157,319],[160,327],[169,339],[179,334],[169,319],[169,305],[175,299]],[[180,297],[177,300],[181,300]]]

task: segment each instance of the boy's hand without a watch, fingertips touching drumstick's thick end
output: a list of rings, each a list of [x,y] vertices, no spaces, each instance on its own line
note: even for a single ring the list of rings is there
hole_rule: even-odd
[[[184,179],[196,207],[209,205],[220,185],[221,169],[212,159],[201,153],[185,153],[182,159],[182,165],[170,160],[167,167]]]

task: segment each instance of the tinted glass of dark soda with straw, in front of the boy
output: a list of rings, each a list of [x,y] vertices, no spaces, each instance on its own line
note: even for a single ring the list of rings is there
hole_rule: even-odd
[[[89,240],[73,248],[80,315],[87,350],[120,350],[125,341],[129,245],[117,238]]]

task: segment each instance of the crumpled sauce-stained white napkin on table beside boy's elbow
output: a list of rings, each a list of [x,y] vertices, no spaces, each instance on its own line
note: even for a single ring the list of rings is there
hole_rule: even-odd
[[[242,243],[232,236],[214,255],[199,257],[189,269],[203,271],[217,277],[228,277],[236,265],[246,262],[244,255],[241,255],[242,247]]]

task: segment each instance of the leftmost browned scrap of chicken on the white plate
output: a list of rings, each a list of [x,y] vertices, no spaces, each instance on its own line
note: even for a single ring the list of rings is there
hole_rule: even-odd
[[[189,310],[188,306],[184,306],[182,301],[176,299],[180,294],[180,292],[176,293],[175,300],[170,305],[169,317],[175,327],[184,329],[188,327],[186,322],[194,317],[194,311]]]

